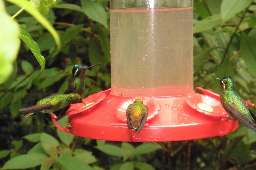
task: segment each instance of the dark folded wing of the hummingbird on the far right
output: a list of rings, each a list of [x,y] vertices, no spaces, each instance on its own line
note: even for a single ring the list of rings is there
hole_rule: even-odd
[[[256,121],[251,120],[246,115],[241,113],[237,107],[232,103],[228,104],[227,102],[223,104],[225,110],[233,116],[236,120],[238,120],[241,124],[245,125],[247,128],[256,131]],[[255,116],[254,116],[255,117]]]

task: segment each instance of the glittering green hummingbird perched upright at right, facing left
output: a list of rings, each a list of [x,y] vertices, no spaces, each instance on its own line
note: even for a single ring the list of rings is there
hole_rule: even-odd
[[[213,77],[213,76],[212,76]],[[231,77],[219,79],[221,85],[221,104],[227,113],[247,128],[256,131],[256,117],[245,101],[235,91],[235,83]]]

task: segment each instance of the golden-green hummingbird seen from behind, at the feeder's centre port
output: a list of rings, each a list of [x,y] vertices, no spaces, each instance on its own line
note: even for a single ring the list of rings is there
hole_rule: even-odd
[[[138,133],[143,128],[149,109],[143,100],[136,99],[133,104],[130,104],[126,109],[127,125],[129,129],[135,129]]]

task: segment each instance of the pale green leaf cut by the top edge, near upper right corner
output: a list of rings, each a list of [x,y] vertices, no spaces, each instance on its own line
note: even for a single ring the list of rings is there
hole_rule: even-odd
[[[223,0],[221,3],[221,18],[223,22],[244,10],[252,2],[253,0]]]

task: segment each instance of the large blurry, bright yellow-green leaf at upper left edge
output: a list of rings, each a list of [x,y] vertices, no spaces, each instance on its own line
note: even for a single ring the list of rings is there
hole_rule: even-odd
[[[18,39],[18,24],[10,19],[0,1],[0,84],[10,76],[13,71],[13,62],[16,60],[20,41]]]

